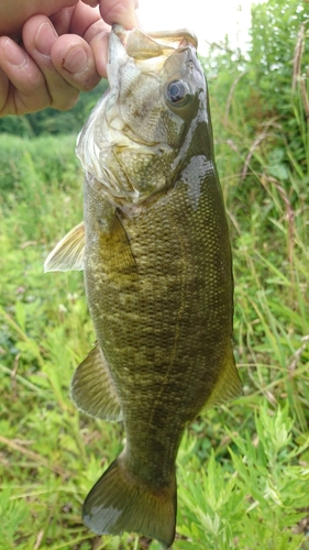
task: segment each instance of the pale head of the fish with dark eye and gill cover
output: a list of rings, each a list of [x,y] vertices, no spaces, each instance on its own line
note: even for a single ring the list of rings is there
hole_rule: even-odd
[[[113,25],[107,70],[110,89],[78,138],[77,156],[117,207],[136,213],[175,185],[197,127],[208,122],[196,37]]]

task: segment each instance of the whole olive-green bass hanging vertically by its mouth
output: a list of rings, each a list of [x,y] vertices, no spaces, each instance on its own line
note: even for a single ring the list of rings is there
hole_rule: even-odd
[[[71,398],[125,429],[123,451],[86,497],[84,522],[169,548],[184,430],[242,393],[229,227],[194,33],[113,25],[108,79],[77,139],[84,222],[45,272],[84,270],[97,344],[74,374]]]

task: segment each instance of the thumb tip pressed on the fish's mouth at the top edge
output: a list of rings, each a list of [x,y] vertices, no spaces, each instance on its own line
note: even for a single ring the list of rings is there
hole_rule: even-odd
[[[137,7],[137,0],[101,0],[100,12],[109,25],[119,23],[130,30],[139,26],[135,14]]]

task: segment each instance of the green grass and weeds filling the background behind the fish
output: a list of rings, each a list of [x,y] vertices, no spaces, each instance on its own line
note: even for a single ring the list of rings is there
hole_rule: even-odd
[[[309,549],[308,8],[253,6],[249,51],[227,40],[203,59],[244,395],[186,431],[175,550]],[[95,339],[82,274],[43,275],[47,253],[82,216],[74,144],[104,86],[66,113],[0,120],[1,550],[159,548],[81,525],[85,495],[124,435],[69,400]]]

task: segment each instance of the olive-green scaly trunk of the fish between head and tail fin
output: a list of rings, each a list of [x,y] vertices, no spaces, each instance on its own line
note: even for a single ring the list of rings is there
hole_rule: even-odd
[[[164,482],[157,469],[174,471],[185,425],[232,358],[231,253],[213,166],[202,180],[179,179],[137,217],[114,216],[129,241],[108,248],[102,237],[104,245],[90,240],[88,249],[86,237],[87,297],[118,388],[126,453],[148,481],[156,469],[155,484]],[[89,219],[95,226],[91,210]]]

